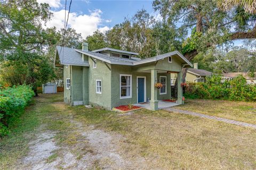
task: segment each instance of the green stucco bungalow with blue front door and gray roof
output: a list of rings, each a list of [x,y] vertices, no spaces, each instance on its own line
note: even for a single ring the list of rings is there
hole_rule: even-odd
[[[64,101],[70,105],[98,105],[107,109],[127,104],[150,102],[158,109],[158,100],[171,98],[171,74],[182,82],[182,67],[193,66],[174,51],[140,60],[138,53],[113,48],[82,50],[57,46],[55,67],[63,68]],[[161,82],[163,88],[154,84]],[[178,86],[178,103],[182,89]]]

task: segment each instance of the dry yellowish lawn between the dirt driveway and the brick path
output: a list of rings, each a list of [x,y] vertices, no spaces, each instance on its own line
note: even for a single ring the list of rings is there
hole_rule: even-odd
[[[256,131],[190,115],[141,109],[130,116],[70,107],[84,124],[122,134],[127,159],[145,157],[163,169],[255,169]]]

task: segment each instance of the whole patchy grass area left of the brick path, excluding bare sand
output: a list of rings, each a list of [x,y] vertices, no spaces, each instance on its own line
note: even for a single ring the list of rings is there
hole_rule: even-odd
[[[163,110],[140,109],[124,115],[101,108],[71,107],[54,103],[58,98],[62,97],[39,96],[37,103],[22,115],[23,121],[16,128],[18,133],[13,128],[13,134],[2,139],[0,166],[3,169],[19,167],[29,153],[28,142],[33,139],[33,135],[28,138],[29,133],[42,128],[56,134],[54,139],[60,147],[47,162],[58,160],[62,150],[70,147],[79,160],[88,153],[98,153],[83,140],[83,134],[92,125],[112,135],[112,145],[123,160],[134,166],[139,161],[145,169],[256,169],[255,129]],[[23,126],[29,128],[23,131]],[[80,126],[83,128],[79,129]],[[16,147],[17,141],[23,144]],[[113,160],[99,158],[94,169],[106,168],[103,165],[110,163]]]

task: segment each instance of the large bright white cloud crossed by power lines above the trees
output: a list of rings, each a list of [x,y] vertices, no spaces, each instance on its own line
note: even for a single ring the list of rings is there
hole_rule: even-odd
[[[57,28],[57,30],[64,28],[65,10],[55,12],[52,11],[52,13],[53,17],[51,21],[46,23],[46,27],[54,26]],[[92,33],[97,29],[99,29],[101,32],[107,31],[110,29],[109,27],[99,27],[101,25],[101,22],[103,21],[101,19],[101,14],[102,11],[99,9],[90,11],[89,15],[78,14],[76,12],[69,13],[68,27],[71,27],[75,29],[78,33],[81,33],[83,38],[92,35]],[[68,11],[66,11],[66,17],[67,15]]]

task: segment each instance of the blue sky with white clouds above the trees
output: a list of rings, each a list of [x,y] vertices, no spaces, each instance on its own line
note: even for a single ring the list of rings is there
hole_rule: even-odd
[[[67,0],[67,11],[63,0],[37,0],[39,3],[49,3],[53,13],[52,20],[46,23],[46,27],[64,27],[65,12],[67,14],[70,0]],[[81,33],[83,38],[92,35],[99,29],[104,32],[115,24],[124,21],[124,18],[131,18],[138,10],[144,8],[155,18],[159,17],[154,12],[153,1],[89,1],[73,0],[69,14],[68,27],[74,28]],[[242,40],[234,41],[235,46],[242,46]]]

